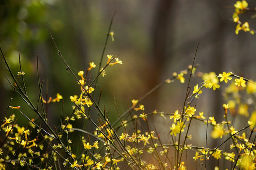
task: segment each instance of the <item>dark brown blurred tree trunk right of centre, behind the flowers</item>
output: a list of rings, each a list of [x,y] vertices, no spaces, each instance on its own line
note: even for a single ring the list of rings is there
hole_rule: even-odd
[[[150,55],[149,64],[147,67],[146,88],[149,90],[160,83],[160,77],[163,75],[163,65],[167,60],[167,34],[171,33],[170,22],[172,22],[171,8],[173,0],[160,0],[155,9],[155,17],[152,22],[151,39],[152,39],[152,53]],[[147,99],[146,103],[149,105],[147,109],[153,111],[157,108],[159,99],[159,91],[152,93]]]

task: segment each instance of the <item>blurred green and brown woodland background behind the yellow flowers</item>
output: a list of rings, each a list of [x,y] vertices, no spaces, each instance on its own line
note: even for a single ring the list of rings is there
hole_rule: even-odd
[[[256,6],[253,0],[247,2],[251,8]],[[65,60],[76,73],[86,71],[90,61],[99,65],[110,20],[116,11],[111,28],[114,41],[108,42],[103,63],[107,62],[106,56],[110,54],[118,55],[123,64],[107,68],[107,75],[105,78],[101,76],[98,83],[99,87],[103,87],[102,106],[105,104],[107,109],[110,108],[110,118],[115,119],[118,114],[114,97],[118,108],[127,110],[132,99],[139,99],[172,76],[173,72],[192,64],[199,42],[195,61],[200,65],[198,71],[214,71],[217,75],[232,71],[256,80],[255,35],[242,31],[235,34],[236,23],[232,21],[234,3],[236,0],[1,0],[0,44],[14,73],[19,71],[20,51],[27,91],[35,102],[39,94],[38,55],[40,78],[44,80],[43,96],[46,92],[48,97],[55,97],[56,93],[63,95],[64,112],[68,115],[72,111],[69,97],[78,95],[80,87],[66,71],[46,25]],[[253,14],[246,13],[240,18],[256,28]],[[91,79],[98,69],[92,69]],[[1,113],[5,112],[12,93],[6,75],[9,76],[9,73],[1,57]],[[185,78],[188,79],[188,76]],[[192,86],[201,82],[200,78],[194,77]],[[174,112],[179,105],[183,105],[186,86],[186,83],[181,84],[177,80],[151,93],[142,101],[146,112]],[[198,111],[210,112],[210,116],[215,116],[220,122],[223,114],[222,91],[204,89],[200,100],[195,100],[193,105],[196,104]],[[24,102],[15,94],[11,105],[20,103]],[[62,107],[61,103],[54,104],[48,110],[52,123],[59,119]],[[33,117],[34,113],[26,107],[22,109]],[[20,116],[19,119],[23,118]],[[154,119],[154,122],[163,130],[159,133],[169,141],[170,121],[161,118]],[[205,125],[202,123],[194,128],[191,133],[198,136],[195,141],[204,144],[205,134],[197,130],[202,128],[205,131]]]

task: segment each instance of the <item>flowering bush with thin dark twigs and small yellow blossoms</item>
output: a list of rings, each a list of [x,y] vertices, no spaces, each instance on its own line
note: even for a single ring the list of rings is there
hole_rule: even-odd
[[[248,23],[241,26],[238,17],[248,10],[247,5],[245,0],[235,4],[236,12],[233,18],[238,23],[236,34],[239,30],[250,31]],[[254,31],[250,32],[254,34]],[[105,45],[110,36],[114,41],[113,35],[114,33],[109,31]],[[105,55],[103,50],[99,66],[90,62],[87,70],[75,73],[58,50],[51,32],[50,36],[67,70],[73,75],[74,84],[79,85],[80,93],[69,98],[73,103],[72,111],[62,110],[59,124],[50,126],[45,108],[51,103],[61,102],[63,96],[57,93],[56,97],[43,98],[37,65],[39,95],[37,101],[32,101],[27,94],[24,81],[26,73],[22,71],[21,64],[18,74],[14,74],[4,52],[0,49],[11,76],[9,83],[13,88],[13,94],[18,93],[34,113],[30,117],[22,112],[23,106],[12,106],[11,97],[0,124],[3,136],[0,141],[1,170],[186,170],[192,167],[191,162],[195,162],[195,169],[201,169],[201,166],[206,169],[210,159],[217,160],[215,170],[219,169],[220,161],[225,169],[256,169],[256,110],[254,102],[248,97],[255,97],[256,83],[253,80],[232,72],[197,74],[198,66],[194,64],[194,57],[192,65],[188,68],[178,73],[174,72],[141,99],[131,100],[128,110],[120,112],[117,109],[119,118],[110,122],[109,111],[100,105],[102,89],[97,88],[97,81],[101,76],[107,75],[110,66],[123,64],[122,61],[117,56]],[[98,71],[95,70],[97,68]],[[97,73],[94,79],[90,76],[93,71]],[[201,75],[201,82],[192,85],[191,79],[196,75]],[[171,112],[148,112],[143,105],[143,99],[161,86],[174,83],[176,80],[177,83],[187,83],[183,104],[173,108]],[[224,87],[225,84],[228,86]],[[204,114],[196,104],[193,104],[200,100],[200,95],[206,93],[206,88],[213,91],[222,89],[224,92],[225,103],[219,106],[223,108],[221,122],[216,122],[214,116]],[[95,91],[99,92],[98,96],[95,96]],[[19,126],[16,115],[10,109],[19,110],[27,119],[27,127]],[[90,114],[91,110],[97,111],[96,118]],[[152,121],[149,121],[153,119],[152,115],[162,119],[165,119],[165,116],[170,118],[170,124],[167,125],[170,136],[168,143],[162,142],[156,128],[152,129]],[[233,119],[236,116],[245,117],[247,125],[240,129],[235,127]],[[81,122],[82,127],[78,126]],[[192,145],[192,122],[204,123],[204,146]],[[212,127],[212,131],[208,127]],[[210,136],[219,141],[214,148],[207,145],[209,131]],[[224,145],[226,147],[223,147]],[[194,156],[188,157],[188,152]]]

